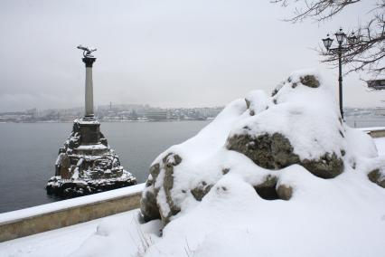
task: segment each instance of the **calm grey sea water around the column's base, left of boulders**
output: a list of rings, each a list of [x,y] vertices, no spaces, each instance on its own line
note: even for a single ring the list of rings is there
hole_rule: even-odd
[[[101,131],[138,183],[166,148],[191,138],[209,121],[102,123]],[[0,213],[58,201],[46,195],[54,162],[71,123],[0,124]]]

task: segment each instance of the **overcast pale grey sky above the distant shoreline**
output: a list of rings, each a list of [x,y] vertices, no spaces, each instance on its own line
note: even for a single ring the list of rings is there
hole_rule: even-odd
[[[312,50],[328,32],[365,20],[365,2],[324,24],[290,24],[268,0],[0,2],[0,111],[70,108],[84,101],[78,44],[98,47],[94,102],[159,107],[225,105],[270,92],[296,69],[337,69]],[[364,79],[371,76],[362,73]],[[344,78],[347,106],[384,105],[358,74]]]

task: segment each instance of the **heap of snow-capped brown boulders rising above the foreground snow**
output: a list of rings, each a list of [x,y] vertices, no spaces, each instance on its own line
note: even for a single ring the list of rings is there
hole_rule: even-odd
[[[293,166],[318,180],[357,169],[380,185],[380,171],[369,175],[380,166],[370,161],[376,157],[371,138],[341,119],[333,87],[315,71],[297,71],[271,97],[255,90],[234,100],[197,136],[156,157],[141,213],[168,224],[212,190],[227,192],[218,182],[234,175],[262,199],[291,200],[300,190],[298,179],[286,175]]]

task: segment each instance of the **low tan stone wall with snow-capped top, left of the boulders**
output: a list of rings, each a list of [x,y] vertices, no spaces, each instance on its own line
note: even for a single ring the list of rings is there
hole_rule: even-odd
[[[0,242],[136,209],[145,184],[0,214]]]

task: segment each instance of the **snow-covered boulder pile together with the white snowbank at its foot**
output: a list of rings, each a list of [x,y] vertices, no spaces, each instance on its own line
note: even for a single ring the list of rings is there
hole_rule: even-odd
[[[347,127],[315,71],[297,71],[156,157],[147,223],[102,224],[74,256],[380,257],[384,186],[372,139]]]

